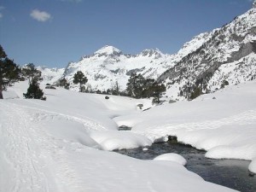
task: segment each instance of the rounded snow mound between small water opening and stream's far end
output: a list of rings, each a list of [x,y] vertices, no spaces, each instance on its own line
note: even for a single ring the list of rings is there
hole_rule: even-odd
[[[121,148],[138,148],[152,144],[147,137],[131,131],[91,131],[90,137],[108,151]]]

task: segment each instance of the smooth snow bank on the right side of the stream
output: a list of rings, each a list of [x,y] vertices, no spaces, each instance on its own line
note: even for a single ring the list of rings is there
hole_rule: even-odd
[[[256,81],[227,86],[192,102],[176,102],[143,113],[115,118],[132,131],[157,141],[168,135],[209,158],[253,160],[256,157]],[[216,99],[212,99],[215,97]]]

